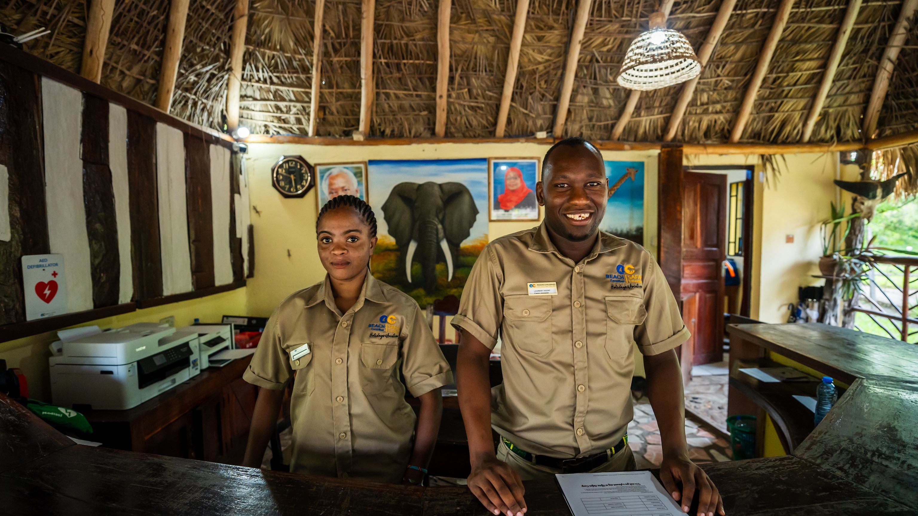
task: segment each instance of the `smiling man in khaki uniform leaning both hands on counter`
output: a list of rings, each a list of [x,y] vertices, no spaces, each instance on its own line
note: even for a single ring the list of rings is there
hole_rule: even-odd
[[[636,343],[662,437],[664,487],[683,511],[697,487],[698,513],[723,514],[686,444],[674,348],[689,331],[650,253],[599,231],[608,190],[597,148],[582,138],[558,142],[536,184],[543,224],[488,244],[465,283],[453,325],[462,332],[469,489],[488,511],[521,516],[521,480],[633,470],[627,429]],[[487,360],[498,334],[504,381],[490,389]]]

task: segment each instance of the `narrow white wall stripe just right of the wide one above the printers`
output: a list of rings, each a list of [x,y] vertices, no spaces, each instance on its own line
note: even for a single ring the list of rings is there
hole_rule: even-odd
[[[229,148],[210,146],[210,199],[214,220],[214,284],[232,283],[229,258]]]

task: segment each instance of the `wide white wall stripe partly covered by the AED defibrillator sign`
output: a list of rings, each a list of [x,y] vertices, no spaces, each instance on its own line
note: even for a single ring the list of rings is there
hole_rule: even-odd
[[[67,278],[67,311],[93,308],[93,277],[83,201],[83,93],[47,77],[41,78],[45,134],[45,203],[51,253],[63,255]]]

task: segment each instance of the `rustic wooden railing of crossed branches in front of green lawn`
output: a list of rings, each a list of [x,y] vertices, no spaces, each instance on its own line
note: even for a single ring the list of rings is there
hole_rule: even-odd
[[[890,338],[908,342],[918,334],[918,258],[878,256],[870,265],[851,310],[867,314]],[[889,320],[895,331],[878,317]],[[864,331],[857,324],[855,329]]]

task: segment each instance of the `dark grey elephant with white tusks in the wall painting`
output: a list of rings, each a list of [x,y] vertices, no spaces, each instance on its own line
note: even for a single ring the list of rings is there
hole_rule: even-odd
[[[432,293],[440,262],[446,262],[447,280],[453,280],[459,246],[477,214],[472,193],[460,182],[400,182],[392,189],[383,216],[398,246],[399,270],[405,271],[409,284]],[[420,278],[411,277],[414,261],[420,262]]]

